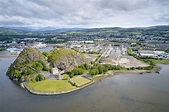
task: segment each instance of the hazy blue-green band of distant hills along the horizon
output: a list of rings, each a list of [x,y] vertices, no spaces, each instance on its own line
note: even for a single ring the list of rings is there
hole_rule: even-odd
[[[48,35],[48,34],[68,34],[68,35],[97,35],[97,34],[121,34],[127,35],[164,35],[168,33],[169,25],[163,26],[150,26],[150,27],[135,27],[135,28],[121,28],[121,27],[107,27],[107,28],[26,28],[26,27],[0,27],[1,35]]]

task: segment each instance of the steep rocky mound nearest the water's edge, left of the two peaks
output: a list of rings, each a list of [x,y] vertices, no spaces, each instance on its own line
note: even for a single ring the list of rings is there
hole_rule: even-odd
[[[26,80],[27,78],[32,79],[33,75],[37,75],[37,73],[39,72],[38,70],[43,69],[42,65],[44,65],[45,63],[45,58],[40,53],[40,51],[31,47],[25,48],[19,54],[17,59],[11,64],[7,74],[13,80],[19,81]]]

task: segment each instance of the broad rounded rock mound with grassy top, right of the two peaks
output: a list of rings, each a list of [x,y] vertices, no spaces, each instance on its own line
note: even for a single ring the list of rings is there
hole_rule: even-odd
[[[71,71],[75,67],[88,63],[82,53],[72,49],[55,49],[51,51],[48,61],[60,70]]]

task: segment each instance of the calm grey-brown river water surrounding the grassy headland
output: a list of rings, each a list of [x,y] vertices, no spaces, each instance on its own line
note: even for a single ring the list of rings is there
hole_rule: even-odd
[[[37,96],[6,76],[14,59],[0,59],[0,112],[169,112],[169,65],[160,65],[160,74],[116,75],[72,93]]]

